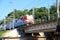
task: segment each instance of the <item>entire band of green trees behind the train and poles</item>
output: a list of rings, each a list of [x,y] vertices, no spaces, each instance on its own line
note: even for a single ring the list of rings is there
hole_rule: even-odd
[[[59,12],[60,12],[60,5],[59,5]],[[21,16],[24,16],[26,14],[32,15],[32,9],[28,11],[28,9],[25,10],[16,10],[10,12],[6,17],[6,23],[10,22],[9,18],[13,18],[15,15],[15,18],[20,18]],[[34,8],[34,15],[35,19],[41,19],[41,20],[48,20],[48,8],[46,7],[40,7],[40,8]],[[53,18],[54,17],[54,18]],[[56,19],[56,6],[52,5],[50,7],[50,19]],[[3,20],[0,22],[0,24],[3,24]]]

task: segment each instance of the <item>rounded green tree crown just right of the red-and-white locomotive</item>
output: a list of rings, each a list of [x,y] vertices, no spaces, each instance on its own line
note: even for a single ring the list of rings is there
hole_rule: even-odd
[[[47,16],[47,11],[48,10],[46,7],[34,8],[35,19],[41,18],[42,16]],[[32,14],[32,9],[29,10],[29,13]]]

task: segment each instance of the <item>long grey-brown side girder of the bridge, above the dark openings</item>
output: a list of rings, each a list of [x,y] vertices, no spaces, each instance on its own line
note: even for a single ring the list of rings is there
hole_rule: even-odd
[[[32,25],[30,27],[25,28],[25,32],[31,33],[31,32],[49,32],[49,31],[56,31],[57,22],[56,21],[49,21],[44,22],[36,25]]]

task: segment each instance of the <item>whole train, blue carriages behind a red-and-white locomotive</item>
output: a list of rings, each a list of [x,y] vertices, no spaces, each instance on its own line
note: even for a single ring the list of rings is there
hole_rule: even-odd
[[[24,25],[32,25],[34,24],[34,17],[33,15],[24,15],[21,16],[19,19],[15,19],[12,22],[6,24],[6,29],[13,29],[15,27],[24,26]]]

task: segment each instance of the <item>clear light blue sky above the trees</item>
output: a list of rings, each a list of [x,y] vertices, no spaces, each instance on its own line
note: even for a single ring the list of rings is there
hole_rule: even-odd
[[[4,19],[14,9],[24,10],[33,7],[47,7],[55,4],[56,0],[0,0],[0,20]],[[59,0],[60,2],[60,0]]]

